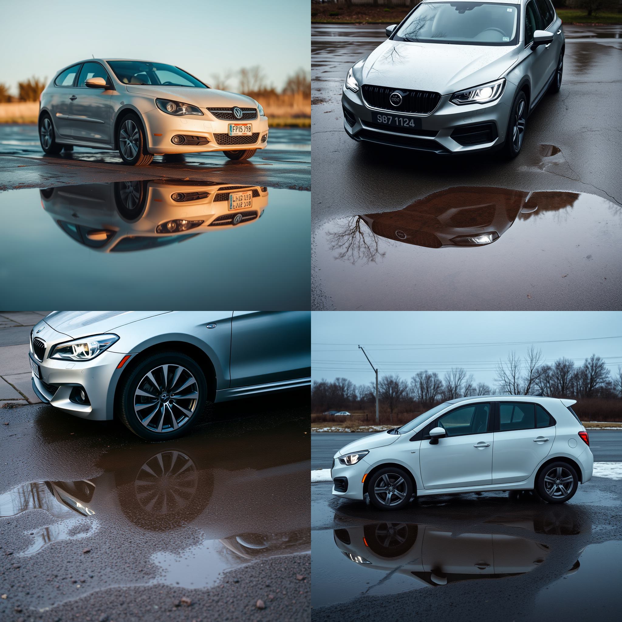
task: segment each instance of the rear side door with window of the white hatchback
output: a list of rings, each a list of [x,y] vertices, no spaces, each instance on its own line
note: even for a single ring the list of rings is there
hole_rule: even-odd
[[[524,481],[549,455],[555,440],[555,421],[540,404],[531,402],[498,402],[497,412],[493,484]]]

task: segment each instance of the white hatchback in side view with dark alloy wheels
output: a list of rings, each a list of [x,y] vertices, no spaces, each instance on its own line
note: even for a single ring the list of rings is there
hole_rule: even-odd
[[[594,458],[573,399],[462,397],[400,428],[341,448],[333,494],[399,509],[413,495],[536,490],[564,503],[592,478]]]

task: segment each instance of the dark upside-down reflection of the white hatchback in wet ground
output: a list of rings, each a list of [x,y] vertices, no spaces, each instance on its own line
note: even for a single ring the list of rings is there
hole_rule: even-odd
[[[550,553],[548,545],[522,537],[453,533],[406,522],[335,529],[334,536],[337,547],[355,564],[432,586],[521,575],[543,564]]]

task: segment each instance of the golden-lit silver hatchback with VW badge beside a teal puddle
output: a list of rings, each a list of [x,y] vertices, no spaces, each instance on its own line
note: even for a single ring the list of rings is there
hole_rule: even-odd
[[[154,155],[221,151],[245,160],[264,149],[268,120],[246,95],[210,88],[174,65],[93,58],[58,72],[40,99],[45,153],[118,149],[125,164]]]

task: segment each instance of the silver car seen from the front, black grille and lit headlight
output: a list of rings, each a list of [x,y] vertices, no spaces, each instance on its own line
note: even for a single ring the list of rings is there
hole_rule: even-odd
[[[348,71],[344,128],[356,141],[450,154],[521,151],[528,114],[564,68],[550,0],[423,0]]]

